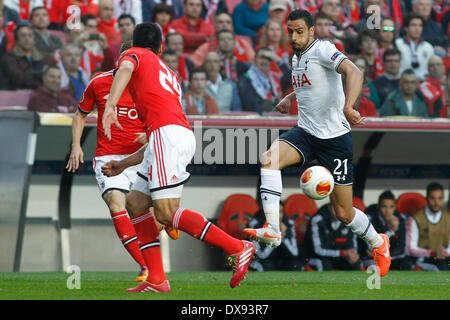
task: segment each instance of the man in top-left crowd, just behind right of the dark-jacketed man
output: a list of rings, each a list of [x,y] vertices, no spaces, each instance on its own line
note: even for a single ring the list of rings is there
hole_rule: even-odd
[[[31,11],[30,25],[34,30],[35,47],[42,55],[52,56],[61,49],[63,42],[48,31],[50,19],[45,7],[35,7]]]

